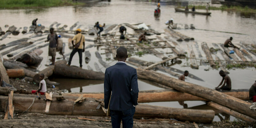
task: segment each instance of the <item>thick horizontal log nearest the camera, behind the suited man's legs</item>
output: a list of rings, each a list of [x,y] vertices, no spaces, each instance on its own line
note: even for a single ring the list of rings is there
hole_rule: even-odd
[[[30,95],[31,96],[31,95]],[[83,103],[74,104],[74,101],[78,97],[66,97],[65,99],[58,101],[53,96],[51,101],[51,106],[49,108],[49,115],[85,115],[85,116],[105,116],[106,114],[102,109],[96,109],[100,104],[93,98],[86,98]],[[1,112],[5,109],[7,96],[0,96]],[[21,97],[13,96],[13,105],[15,106],[15,112],[23,112],[29,108],[33,101],[32,97]],[[34,104],[28,112],[32,113],[44,113],[46,107],[46,102],[44,100],[35,99]],[[190,122],[201,122],[210,123],[214,118],[214,111],[212,110],[192,110],[192,109],[182,109],[182,108],[171,108],[171,107],[160,107],[152,106],[147,104],[140,104],[136,106],[136,112],[134,118],[142,117],[159,117],[159,118],[172,118],[180,121],[190,121]]]

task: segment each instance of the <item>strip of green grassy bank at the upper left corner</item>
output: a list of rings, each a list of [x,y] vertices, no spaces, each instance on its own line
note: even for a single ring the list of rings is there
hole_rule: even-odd
[[[0,9],[75,6],[83,4],[73,2],[72,0],[0,0]]]

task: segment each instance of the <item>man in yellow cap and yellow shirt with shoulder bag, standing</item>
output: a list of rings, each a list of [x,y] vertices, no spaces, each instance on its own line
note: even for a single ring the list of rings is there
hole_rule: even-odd
[[[73,43],[74,41],[75,41],[75,45]],[[79,46],[78,46],[78,43],[80,43]],[[81,29],[78,28],[78,29],[76,29],[76,35],[72,39],[72,45],[73,45],[74,48],[73,48],[73,51],[70,54],[67,66],[70,66],[73,56],[75,55],[76,52],[78,52],[80,69],[82,69],[82,52],[84,52],[84,45],[85,45],[84,43],[85,43],[85,38],[81,33]],[[78,46],[78,47],[76,47],[76,46]]]

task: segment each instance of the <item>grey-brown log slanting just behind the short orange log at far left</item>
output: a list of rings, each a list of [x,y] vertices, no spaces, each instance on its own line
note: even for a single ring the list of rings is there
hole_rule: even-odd
[[[24,73],[25,73],[25,76],[28,76],[28,77],[34,77],[34,75],[36,75],[35,72],[31,71],[31,70],[27,70],[19,65],[17,65],[16,63],[13,63],[12,61],[7,61],[5,60],[3,62],[5,68],[7,69],[23,69],[24,70]]]

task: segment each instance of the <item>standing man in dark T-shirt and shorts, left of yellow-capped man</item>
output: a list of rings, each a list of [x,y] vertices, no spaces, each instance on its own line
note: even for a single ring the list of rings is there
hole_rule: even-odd
[[[56,33],[54,33],[54,28],[50,28],[50,34],[47,36],[47,40],[44,42],[49,41],[49,51],[48,55],[52,56],[52,64],[55,65],[55,56],[56,56],[56,47],[58,47],[58,36]]]

